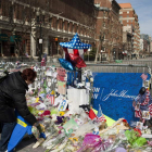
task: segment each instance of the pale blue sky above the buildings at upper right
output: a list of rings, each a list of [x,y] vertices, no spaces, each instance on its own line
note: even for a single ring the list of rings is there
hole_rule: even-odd
[[[116,0],[117,3],[131,3],[140,25],[140,34],[152,36],[152,0]]]

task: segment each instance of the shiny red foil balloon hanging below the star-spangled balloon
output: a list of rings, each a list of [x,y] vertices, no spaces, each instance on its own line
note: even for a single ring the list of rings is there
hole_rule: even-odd
[[[80,68],[80,67],[86,67],[87,66],[85,61],[79,55],[75,55],[75,54],[69,53],[69,58],[71,58],[72,63],[76,67]]]

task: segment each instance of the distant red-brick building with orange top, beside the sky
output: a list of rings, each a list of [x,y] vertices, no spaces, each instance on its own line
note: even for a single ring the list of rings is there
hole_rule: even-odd
[[[132,36],[132,55],[139,56],[140,51],[140,30],[138,23],[138,15],[136,14],[134,8],[130,3],[119,3],[119,21],[124,26],[132,26],[134,27],[134,36]]]

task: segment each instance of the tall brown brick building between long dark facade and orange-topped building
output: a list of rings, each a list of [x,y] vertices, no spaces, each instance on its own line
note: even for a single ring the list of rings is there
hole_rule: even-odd
[[[107,61],[121,59],[123,26],[119,22],[121,7],[115,0],[94,0],[99,10],[97,17],[97,49]]]

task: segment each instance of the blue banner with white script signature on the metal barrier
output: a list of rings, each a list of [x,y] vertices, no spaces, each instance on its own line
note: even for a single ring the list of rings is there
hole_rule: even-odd
[[[117,121],[135,118],[132,101],[142,87],[142,73],[93,73],[93,107]],[[150,75],[149,75],[150,77]]]

